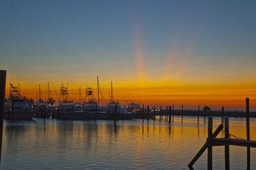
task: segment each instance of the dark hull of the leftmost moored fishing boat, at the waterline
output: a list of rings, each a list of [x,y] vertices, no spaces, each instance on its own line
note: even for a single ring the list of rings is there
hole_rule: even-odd
[[[32,120],[35,117],[35,112],[5,112],[4,118],[6,120]]]

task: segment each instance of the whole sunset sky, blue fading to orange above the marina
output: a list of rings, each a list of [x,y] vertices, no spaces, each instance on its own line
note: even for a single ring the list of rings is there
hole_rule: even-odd
[[[256,110],[255,1],[0,1],[0,69],[26,97],[63,83],[122,104]],[[8,95],[9,85],[6,86]],[[95,93],[97,93],[95,91]],[[53,95],[52,95],[53,96]],[[54,96],[57,98],[56,96]]]

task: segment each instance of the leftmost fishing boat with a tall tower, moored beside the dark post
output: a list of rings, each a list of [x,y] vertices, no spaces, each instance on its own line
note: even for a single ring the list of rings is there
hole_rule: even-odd
[[[28,104],[28,100],[20,95],[18,87],[10,83],[10,95],[5,106],[4,118],[8,120],[32,120],[35,110]]]

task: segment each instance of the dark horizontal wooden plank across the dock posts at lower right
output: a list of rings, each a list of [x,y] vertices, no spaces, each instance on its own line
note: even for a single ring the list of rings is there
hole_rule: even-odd
[[[256,148],[256,141],[248,141],[245,139],[209,138],[207,141],[211,146],[235,145]]]

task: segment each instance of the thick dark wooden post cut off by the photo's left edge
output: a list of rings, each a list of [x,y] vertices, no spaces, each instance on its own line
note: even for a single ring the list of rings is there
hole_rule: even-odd
[[[0,165],[3,141],[3,125],[4,125],[4,98],[5,98],[6,70],[0,70]]]

